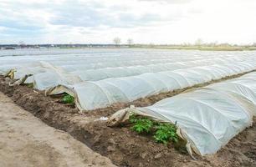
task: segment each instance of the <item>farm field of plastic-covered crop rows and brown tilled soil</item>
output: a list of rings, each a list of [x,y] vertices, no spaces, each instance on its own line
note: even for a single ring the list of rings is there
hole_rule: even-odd
[[[160,48],[0,51],[0,91],[118,166],[255,166],[255,55]],[[156,125],[147,131],[145,120]],[[157,142],[159,124],[175,126],[177,142]]]

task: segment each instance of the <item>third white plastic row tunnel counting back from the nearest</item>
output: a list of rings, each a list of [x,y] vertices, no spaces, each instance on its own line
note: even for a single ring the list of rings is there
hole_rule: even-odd
[[[74,81],[97,81],[102,80],[105,78],[120,78],[120,77],[127,77],[127,76],[135,76],[140,75],[142,73],[156,73],[161,71],[173,71],[176,69],[182,69],[182,68],[191,68],[191,67],[198,67],[202,66],[204,64],[223,64],[223,63],[230,63],[233,61],[244,61],[245,58],[211,58],[211,61],[209,59],[203,59],[203,60],[196,60],[196,61],[187,61],[187,62],[177,62],[177,63],[156,63],[156,64],[150,64],[145,66],[129,66],[129,67],[116,67],[116,68],[98,68],[98,69],[89,69],[89,70],[75,70],[72,72],[67,72],[66,69],[63,68],[56,68],[50,63],[42,63],[41,66],[43,67],[49,67],[45,68],[44,73],[34,73],[32,81],[34,83],[34,86],[36,89],[48,89],[54,86],[57,86],[59,84],[69,84]],[[250,58],[246,58],[250,59]],[[253,61],[254,59],[252,58]],[[43,65],[44,64],[44,65]],[[73,68],[77,68],[76,65],[74,65]],[[51,70],[49,70],[51,69]],[[47,71],[46,71],[47,70]],[[23,70],[19,70],[22,73]],[[28,72],[27,72],[28,73]],[[31,72],[33,73],[33,72]],[[22,74],[17,74],[18,77],[20,77]],[[74,76],[75,79],[73,81],[73,78],[69,78],[66,76]],[[32,82],[31,79],[28,80],[28,82]],[[79,83],[79,82],[76,82]]]

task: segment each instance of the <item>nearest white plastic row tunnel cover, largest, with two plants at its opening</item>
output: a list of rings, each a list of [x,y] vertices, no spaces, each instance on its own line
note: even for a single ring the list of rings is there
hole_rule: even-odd
[[[178,134],[187,140],[188,150],[200,155],[214,154],[252,125],[256,116],[255,99],[256,73],[249,73],[163,99],[149,107],[123,109],[116,115],[134,112],[158,121],[177,123]]]

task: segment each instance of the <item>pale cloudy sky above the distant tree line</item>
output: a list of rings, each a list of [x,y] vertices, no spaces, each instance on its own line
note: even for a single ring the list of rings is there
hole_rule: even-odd
[[[0,44],[256,43],[256,0],[0,0]]]

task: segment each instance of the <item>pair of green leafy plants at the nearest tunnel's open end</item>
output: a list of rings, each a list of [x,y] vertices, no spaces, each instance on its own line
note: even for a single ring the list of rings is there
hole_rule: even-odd
[[[136,114],[131,114],[129,121],[132,124],[131,130],[138,134],[152,134],[157,143],[178,142],[176,124],[158,123],[145,117],[138,117]]]

